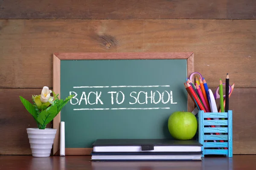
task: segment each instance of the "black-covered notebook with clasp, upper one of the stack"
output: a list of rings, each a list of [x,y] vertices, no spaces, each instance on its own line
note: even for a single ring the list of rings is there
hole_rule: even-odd
[[[196,140],[175,139],[97,139],[92,153],[201,153]]]

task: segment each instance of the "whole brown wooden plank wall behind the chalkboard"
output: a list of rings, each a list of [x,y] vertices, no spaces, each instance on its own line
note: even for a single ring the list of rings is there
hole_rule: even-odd
[[[233,153],[255,154],[255,19],[253,0],[1,1],[0,154],[31,154],[19,96],[52,88],[52,53],[142,51],[194,52],[213,91],[229,73]]]

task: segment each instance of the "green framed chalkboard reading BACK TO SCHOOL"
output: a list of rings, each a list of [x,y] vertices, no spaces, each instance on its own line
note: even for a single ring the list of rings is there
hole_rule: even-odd
[[[175,111],[191,101],[183,82],[193,53],[55,53],[53,91],[73,99],[55,117],[65,122],[66,155],[90,154],[96,139],[172,139]]]

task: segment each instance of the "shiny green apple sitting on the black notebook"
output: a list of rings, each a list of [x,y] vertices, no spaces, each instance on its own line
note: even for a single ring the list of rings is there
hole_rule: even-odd
[[[191,112],[176,111],[169,116],[168,129],[175,139],[192,139],[195,136],[197,128],[197,119]]]

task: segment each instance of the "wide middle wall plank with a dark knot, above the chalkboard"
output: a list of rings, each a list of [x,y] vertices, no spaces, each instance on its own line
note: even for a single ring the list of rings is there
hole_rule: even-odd
[[[256,20],[0,20],[0,27],[1,88],[52,88],[52,54],[67,52],[194,52],[209,87],[227,73],[236,88],[256,87]]]

